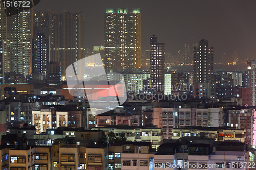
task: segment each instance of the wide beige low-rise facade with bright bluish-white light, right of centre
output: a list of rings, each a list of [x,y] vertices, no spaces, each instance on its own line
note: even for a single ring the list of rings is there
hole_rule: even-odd
[[[163,137],[172,138],[173,128],[185,126],[219,127],[223,125],[222,108],[154,108],[153,125],[163,128]]]

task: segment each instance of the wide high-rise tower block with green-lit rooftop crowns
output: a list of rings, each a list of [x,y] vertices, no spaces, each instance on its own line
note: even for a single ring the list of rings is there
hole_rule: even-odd
[[[104,17],[104,66],[108,70],[141,67],[140,9],[106,8]]]

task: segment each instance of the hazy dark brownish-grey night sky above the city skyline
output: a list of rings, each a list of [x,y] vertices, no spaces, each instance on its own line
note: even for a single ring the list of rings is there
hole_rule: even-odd
[[[86,47],[104,44],[105,8],[140,8],[142,50],[150,47],[150,36],[165,43],[165,51],[176,55],[185,43],[190,47],[204,38],[215,48],[215,61],[226,53],[233,62],[233,51],[239,59],[256,59],[256,1],[89,1],[41,0],[34,9],[84,11],[86,15]],[[227,60],[226,60],[227,61]]]

